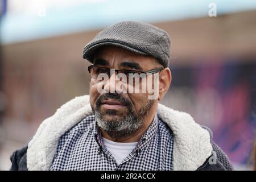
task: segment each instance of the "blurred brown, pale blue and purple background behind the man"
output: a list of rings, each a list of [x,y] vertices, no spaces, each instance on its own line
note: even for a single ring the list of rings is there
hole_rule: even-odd
[[[162,103],[208,126],[236,169],[253,169],[256,1],[1,0],[0,170],[60,105],[89,93],[82,48],[121,20],[170,34]]]

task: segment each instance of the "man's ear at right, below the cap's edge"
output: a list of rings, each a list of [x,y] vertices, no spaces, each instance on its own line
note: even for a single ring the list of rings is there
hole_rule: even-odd
[[[172,74],[169,68],[164,68],[159,73],[159,96],[158,100],[162,100],[164,95],[167,93],[168,89],[170,88],[172,81]]]

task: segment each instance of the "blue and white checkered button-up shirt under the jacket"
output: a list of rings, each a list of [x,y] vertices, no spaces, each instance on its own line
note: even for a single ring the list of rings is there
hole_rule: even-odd
[[[137,146],[118,165],[103,143],[94,115],[89,115],[60,138],[50,170],[171,171],[173,146],[170,127],[155,115]]]

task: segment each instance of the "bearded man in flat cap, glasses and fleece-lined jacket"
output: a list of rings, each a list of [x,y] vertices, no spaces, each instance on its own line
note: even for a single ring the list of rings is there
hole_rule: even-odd
[[[212,134],[159,104],[171,84],[170,37],[151,24],[120,22],[83,50],[89,96],[43,121],[11,156],[13,170],[231,170]]]

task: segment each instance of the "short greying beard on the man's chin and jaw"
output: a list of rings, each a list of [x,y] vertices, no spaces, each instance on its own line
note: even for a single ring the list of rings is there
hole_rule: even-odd
[[[138,114],[135,114],[135,112],[128,107],[128,114],[124,115],[123,119],[113,119],[112,121],[106,121],[99,107],[96,107],[94,110],[95,121],[98,127],[106,131],[110,137],[126,137],[135,133],[142,127],[143,120],[153,104],[154,100],[148,100],[147,104],[144,105],[141,110],[139,110]],[[108,114],[112,113],[109,112]]]

